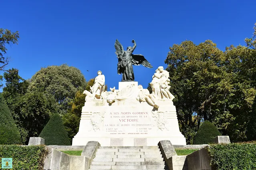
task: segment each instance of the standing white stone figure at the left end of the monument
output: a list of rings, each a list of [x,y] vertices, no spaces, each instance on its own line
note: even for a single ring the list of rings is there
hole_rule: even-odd
[[[98,76],[95,77],[93,86],[90,87],[91,92],[85,90],[83,94],[86,95],[86,98],[92,99],[102,99],[101,93],[105,91],[105,76],[102,75],[101,71],[97,72]]]

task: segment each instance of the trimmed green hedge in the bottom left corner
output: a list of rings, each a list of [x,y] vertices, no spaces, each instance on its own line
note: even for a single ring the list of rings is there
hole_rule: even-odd
[[[42,145],[0,145],[0,165],[2,158],[12,158],[13,170],[43,170],[47,152]]]

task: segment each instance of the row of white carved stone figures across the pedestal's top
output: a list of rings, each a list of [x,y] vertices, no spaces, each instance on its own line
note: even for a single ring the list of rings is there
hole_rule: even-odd
[[[107,103],[111,104],[115,100],[129,99],[135,93],[138,88],[138,96],[136,97],[139,102],[147,102],[149,105],[159,108],[159,99],[173,99],[174,96],[169,92],[169,72],[164,70],[162,66],[155,70],[150,83],[152,93],[150,94],[148,89],[143,89],[142,85],[135,87],[134,84],[123,88],[121,91],[114,88],[110,88],[111,91],[105,91],[105,76],[101,71],[97,72],[98,76],[95,78],[93,86],[90,87],[90,92],[85,90],[87,99],[106,99]]]

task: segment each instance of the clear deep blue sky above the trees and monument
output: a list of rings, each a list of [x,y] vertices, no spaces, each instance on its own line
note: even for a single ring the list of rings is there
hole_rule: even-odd
[[[135,81],[147,87],[169,47],[191,40],[245,45],[256,22],[256,0],[1,0],[0,28],[19,31],[8,47],[8,68],[29,79],[48,65],[77,67],[87,81],[101,70],[108,87],[118,87],[115,40],[126,49],[137,42],[152,69],[134,66]],[[89,71],[87,71],[89,70]],[[1,73],[2,74],[2,73]]]

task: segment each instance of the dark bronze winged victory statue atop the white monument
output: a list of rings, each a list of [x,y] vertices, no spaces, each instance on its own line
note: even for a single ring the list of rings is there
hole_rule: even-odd
[[[123,46],[118,40],[115,41],[115,53],[118,58],[117,73],[122,74],[122,81],[134,81],[133,65],[143,65],[148,68],[153,66],[141,54],[132,54],[136,47],[136,42],[133,47],[127,47],[127,51],[123,50]]]

